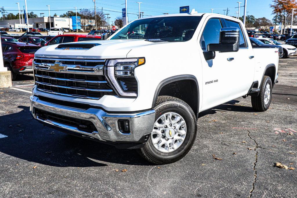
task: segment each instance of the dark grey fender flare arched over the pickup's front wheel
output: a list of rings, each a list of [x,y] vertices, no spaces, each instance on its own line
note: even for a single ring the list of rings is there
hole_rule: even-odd
[[[198,81],[197,81],[197,78],[193,75],[187,75],[187,74],[184,74],[184,75],[176,75],[176,76],[172,76],[172,77],[169,77],[169,78],[166,78],[164,80],[162,80],[159,85],[157,86],[156,88],[156,91],[155,91],[155,94],[154,94],[154,98],[153,98],[153,103],[152,103],[152,108],[154,108],[155,104],[156,104],[156,101],[157,101],[157,98],[159,96],[159,93],[161,91],[161,89],[169,84],[169,83],[173,83],[173,82],[176,82],[176,81],[179,81],[179,80],[193,80],[197,86],[197,98],[198,98],[198,104],[197,104],[197,118],[198,118],[198,113],[199,113],[199,102],[200,102],[200,98],[199,98],[199,85],[198,85]]]

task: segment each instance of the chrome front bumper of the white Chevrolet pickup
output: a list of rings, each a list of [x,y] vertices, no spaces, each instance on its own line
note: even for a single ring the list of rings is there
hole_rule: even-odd
[[[82,137],[90,137],[100,141],[108,142],[138,142],[146,134],[150,134],[154,127],[155,110],[149,110],[141,113],[106,113],[98,108],[89,108],[87,110],[66,107],[59,104],[42,101],[38,96],[31,96],[30,113],[39,122],[61,131],[69,131]],[[71,118],[91,121],[97,131],[92,133],[79,130],[77,127],[68,126],[52,120],[43,120],[35,115],[34,108],[50,113],[64,115]],[[122,134],[119,131],[118,120],[127,119],[130,125],[130,134]]]

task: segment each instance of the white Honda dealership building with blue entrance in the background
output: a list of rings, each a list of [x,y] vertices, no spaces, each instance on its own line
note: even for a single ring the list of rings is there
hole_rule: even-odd
[[[80,17],[78,17],[78,24],[76,26],[76,17],[37,17],[37,18],[29,18],[29,28],[49,28],[50,26],[52,28],[70,28],[75,29],[76,27],[78,30],[81,29],[80,27]],[[25,23],[25,20],[21,19],[21,23],[19,19],[13,19],[13,20],[1,20],[0,21],[0,27],[1,28],[26,28],[27,25]]]

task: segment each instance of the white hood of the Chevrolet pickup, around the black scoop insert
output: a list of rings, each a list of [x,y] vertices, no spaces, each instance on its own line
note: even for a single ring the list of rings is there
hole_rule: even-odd
[[[48,58],[78,58],[78,59],[108,59],[108,58],[127,58],[127,54],[132,49],[143,47],[147,45],[160,45],[164,47],[170,42],[149,42],[144,39],[117,39],[117,40],[101,40],[101,41],[85,41],[85,42],[72,42],[67,44],[85,43],[97,44],[90,49],[56,49],[60,44],[48,45],[40,48],[35,53],[37,57]]]

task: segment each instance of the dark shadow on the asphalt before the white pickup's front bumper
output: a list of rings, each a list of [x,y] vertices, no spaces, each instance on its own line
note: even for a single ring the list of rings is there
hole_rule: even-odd
[[[108,163],[151,165],[135,150],[73,137],[44,127],[31,118],[29,107],[18,106],[18,113],[0,116],[0,152],[56,167],[102,167]]]

